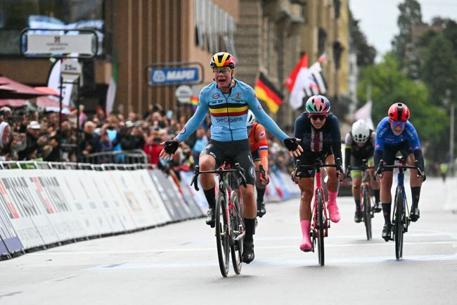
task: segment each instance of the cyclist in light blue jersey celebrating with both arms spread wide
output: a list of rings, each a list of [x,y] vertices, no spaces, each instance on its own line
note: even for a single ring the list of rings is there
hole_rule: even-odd
[[[200,170],[212,171],[219,168],[227,158],[239,163],[244,169],[247,188],[240,186],[246,228],[242,260],[249,264],[255,257],[252,235],[255,230],[257,208],[254,197],[255,169],[247,140],[247,110],[252,110],[259,122],[283,141],[291,156],[299,156],[302,148],[297,144],[296,138],[290,138],[284,134],[273,119],[264,112],[254,89],[233,78],[235,66],[235,58],[230,53],[219,52],[212,56],[210,67],[214,82],[200,91],[197,110],[179,135],[172,141],[162,143],[164,149],[160,152],[160,157],[167,159],[172,156],[179,143],[193,134],[210,110],[211,140],[200,152]],[[214,174],[201,174],[200,183],[209,205],[206,223],[214,227],[214,206],[216,205]]]

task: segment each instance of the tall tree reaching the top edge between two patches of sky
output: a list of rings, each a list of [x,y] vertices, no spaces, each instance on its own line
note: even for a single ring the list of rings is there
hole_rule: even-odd
[[[400,15],[397,19],[397,25],[400,33],[392,40],[392,47],[399,60],[400,67],[404,68],[408,64],[408,51],[412,50],[412,28],[415,25],[423,25],[424,22],[422,21],[422,13],[418,1],[405,0],[404,3],[399,4],[398,8]]]

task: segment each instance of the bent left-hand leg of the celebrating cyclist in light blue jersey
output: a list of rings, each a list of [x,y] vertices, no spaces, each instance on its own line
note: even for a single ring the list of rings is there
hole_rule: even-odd
[[[219,157],[218,157],[219,156]],[[206,145],[205,149],[200,152],[198,160],[200,171],[212,171],[216,166],[221,165],[221,152],[217,143],[210,142]],[[214,206],[216,205],[216,183],[214,182],[214,174],[200,174],[200,183],[202,185],[203,193],[208,202],[208,212],[206,223],[214,227]]]

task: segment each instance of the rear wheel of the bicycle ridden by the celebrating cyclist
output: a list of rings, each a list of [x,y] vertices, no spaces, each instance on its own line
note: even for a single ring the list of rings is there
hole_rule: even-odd
[[[241,273],[242,261],[241,257],[243,256],[243,236],[245,233],[245,224],[243,221],[243,216],[241,216],[240,202],[238,196],[235,192],[232,192],[231,202],[233,204],[233,209],[231,209],[231,257],[233,270],[236,274]]]

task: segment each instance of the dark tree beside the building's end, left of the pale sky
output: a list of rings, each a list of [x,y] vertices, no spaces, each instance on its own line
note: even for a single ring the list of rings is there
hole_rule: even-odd
[[[349,12],[349,37],[351,37],[351,47],[356,50],[357,65],[364,67],[373,65],[376,57],[376,49],[366,41],[366,36],[361,32],[359,20],[355,20]]]

